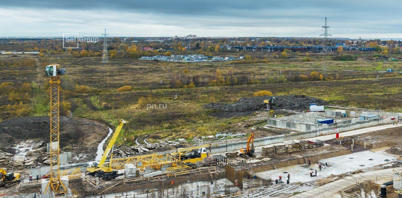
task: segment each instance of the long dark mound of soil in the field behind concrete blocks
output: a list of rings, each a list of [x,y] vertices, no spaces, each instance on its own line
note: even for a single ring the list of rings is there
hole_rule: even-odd
[[[205,104],[203,107],[222,112],[256,111],[267,109],[267,104],[264,103],[264,100],[269,99],[271,99],[271,96],[257,96],[252,98],[241,98],[233,104],[218,102]],[[319,106],[328,104],[328,102],[326,102],[325,100],[313,98],[310,96],[287,95],[277,96],[277,105],[272,106],[271,109],[302,111],[308,108],[310,102],[316,103]]]

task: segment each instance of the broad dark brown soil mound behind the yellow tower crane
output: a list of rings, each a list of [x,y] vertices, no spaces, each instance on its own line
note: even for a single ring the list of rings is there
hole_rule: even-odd
[[[60,147],[86,147],[98,145],[109,133],[109,129],[94,120],[60,117]],[[7,149],[27,139],[41,139],[49,143],[50,118],[12,118],[0,122],[0,149]],[[96,146],[95,146],[96,148]],[[95,149],[96,150],[96,149]]]

